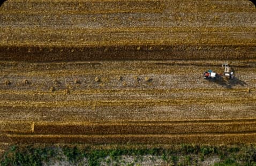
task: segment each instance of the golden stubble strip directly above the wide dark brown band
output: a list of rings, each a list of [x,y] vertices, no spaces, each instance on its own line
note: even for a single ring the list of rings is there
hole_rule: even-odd
[[[172,32],[172,31],[138,31],[131,32],[129,29],[124,32],[104,32],[90,33],[87,29],[80,29],[79,31],[62,32],[56,29],[43,28],[25,28],[25,29],[10,29],[2,28],[4,33],[2,37],[8,40],[2,40],[1,45],[10,46],[81,46],[81,47],[96,47],[96,46],[140,46],[142,44],[148,45],[182,45],[185,44],[255,44],[255,34],[252,31],[248,32]],[[32,30],[34,29],[34,30]],[[21,35],[22,31],[27,33]],[[33,31],[33,32],[32,32]],[[65,30],[66,31],[66,30]],[[71,33],[72,32],[72,33]],[[146,35],[145,35],[146,34]],[[41,36],[42,35],[42,36]],[[255,45],[254,45],[255,46]],[[213,49],[213,48],[212,48]],[[104,50],[102,50],[104,51]],[[147,50],[147,51],[150,51]],[[74,52],[74,50],[73,50]],[[137,52],[141,52],[138,51]]]

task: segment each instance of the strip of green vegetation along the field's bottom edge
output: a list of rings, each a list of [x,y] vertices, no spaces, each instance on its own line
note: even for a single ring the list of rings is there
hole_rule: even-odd
[[[133,162],[126,163],[123,156],[132,156]],[[256,165],[256,145],[207,146],[170,145],[168,147],[117,146],[113,148],[93,148],[90,146],[11,146],[1,159],[1,165],[42,165],[51,161],[73,163],[86,162],[88,165],[140,165],[143,157],[150,160],[161,159],[169,165],[198,165],[209,157],[218,157],[214,165]],[[123,158],[122,158],[123,157]],[[84,160],[86,159],[86,160]],[[78,164],[79,165],[79,164]]]

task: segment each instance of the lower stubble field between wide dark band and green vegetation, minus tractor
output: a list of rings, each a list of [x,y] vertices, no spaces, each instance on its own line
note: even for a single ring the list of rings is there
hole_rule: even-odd
[[[255,142],[255,62],[232,61],[234,80],[203,79],[221,72],[213,62],[1,62],[0,129],[23,143]]]

